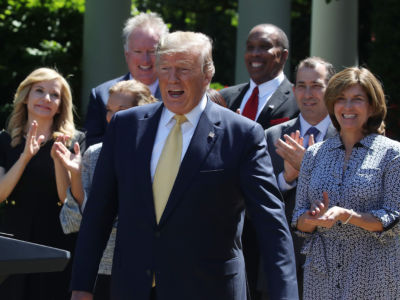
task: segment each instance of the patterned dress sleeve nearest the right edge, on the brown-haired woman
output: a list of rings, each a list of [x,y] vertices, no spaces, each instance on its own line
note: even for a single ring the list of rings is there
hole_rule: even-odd
[[[374,232],[379,239],[396,237],[400,234],[400,155],[392,159],[383,173],[383,205],[371,210],[383,226],[383,232]]]

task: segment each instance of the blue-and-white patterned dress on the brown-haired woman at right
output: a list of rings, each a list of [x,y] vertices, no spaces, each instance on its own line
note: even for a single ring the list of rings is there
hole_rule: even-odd
[[[370,213],[383,232],[337,222],[317,227],[302,253],[304,299],[400,299],[400,143],[370,134],[344,168],[339,135],[308,148],[300,170],[292,226],[327,191],[329,207]]]

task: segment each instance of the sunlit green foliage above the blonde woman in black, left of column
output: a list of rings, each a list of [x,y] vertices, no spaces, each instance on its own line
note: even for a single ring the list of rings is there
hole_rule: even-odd
[[[0,0],[1,128],[18,84],[37,67],[58,69],[79,94],[84,9],[84,0]]]

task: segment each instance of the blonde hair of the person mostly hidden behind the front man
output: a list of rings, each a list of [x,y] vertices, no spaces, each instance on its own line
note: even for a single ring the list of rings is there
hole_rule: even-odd
[[[137,80],[119,81],[109,89],[110,96],[115,93],[128,94],[132,97],[132,106],[157,102],[147,85]]]

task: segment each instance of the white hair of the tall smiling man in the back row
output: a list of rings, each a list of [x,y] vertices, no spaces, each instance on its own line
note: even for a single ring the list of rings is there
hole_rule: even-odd
[[[155,32],[157,32],[160,37],[168,34],[169,32],[167,25],[164,23],[163,19],[157,13],[142,12],[137,16],[129,18],[125,22],[124,29],[122,30],[122,38],[124,39],[125,51],[128,51],[129,36],[132,34],[134,30],[138,28],[152,29]]]

